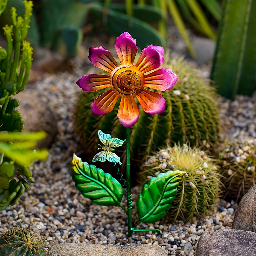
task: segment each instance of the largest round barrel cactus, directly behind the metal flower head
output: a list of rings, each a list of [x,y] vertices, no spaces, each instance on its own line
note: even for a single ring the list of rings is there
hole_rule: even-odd
[[[216,107],[217,94],[208,81],[199,78],[196,70],[183,60],[165,61],[164,68],[172,68],[179,77],[172,90],[163,92],[166,100],[162,114],[150,116],[142,109],[139,121],[131,128],[132,158],[142,161],[150,152],[167,143],[190,142],[191,146],[212,147],[219,133],[219,118]],[[124,140],[125,128],[118,123],[117,109],[105,116],[93,116],[90,105],[102,91],[82,92],[76,106],[76,132],[87,154],[97,153],[97,130]],[[122,162],[122,161],[121,161]]]

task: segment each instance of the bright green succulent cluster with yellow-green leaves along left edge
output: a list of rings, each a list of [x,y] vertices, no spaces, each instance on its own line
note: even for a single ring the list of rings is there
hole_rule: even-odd
[[[0,1],[0,14],[4,11],[6,3],[7,0]],[[44,134],[27,134],[24,137],[18,134],[23,130],[23,119],[20,112],[15,110],[19,101],[11,97],[25,89],[32,62],[33,49],[25,38],[33,3],[25,0],[24,5],[23,18],[17,17],[16,8],[12,7],[13,25],[5,25],[3,28],[6,50],[0,46],[0,210],[10,204],[16,204],[24,189],[29,189],[27,181],[34,182],[26,166],[35,159],[47,157],[45,151],[41,151],[40,155],[40,151],[33,150],[35,141],[43,139]]]

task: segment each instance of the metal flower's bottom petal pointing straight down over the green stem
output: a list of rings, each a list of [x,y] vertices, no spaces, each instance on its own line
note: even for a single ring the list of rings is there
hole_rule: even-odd
[[[119,124],[126,128],[131,128],[139,120],[140,110],[132,97],[122,97],[118,109],[117,117]]]

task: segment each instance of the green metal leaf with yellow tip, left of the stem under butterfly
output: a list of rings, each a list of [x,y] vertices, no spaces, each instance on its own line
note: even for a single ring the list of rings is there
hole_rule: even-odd
[[[96,168],[95,165],[82,162],[73,155],[70,170],[76,188],[86,198],[99,205],[119,205],[124,191],[121,184],[109,173]]]

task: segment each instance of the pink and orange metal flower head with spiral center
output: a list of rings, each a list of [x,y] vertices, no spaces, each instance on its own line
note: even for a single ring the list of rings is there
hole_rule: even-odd
[[[134,65],[137,52],[136,39],[124,32],[116,38],[115,49],[121,65],[118,65],[112,54],[102,46],[89,48],[89,60],[92,65],[105,70],[110,75],[83,75],[76,84],[84,91],[95,92],[107,87],[110,89],[94,100],[91,105],[93,115],[106,115],[111,112],[116,101],[121,97],[117,117],[126,128],[132,127],[140,115],[135,102],[137,98],[145,112],[155,115],[164,112],[165,100],[160,93],[145,89],[165,91],[172,89],[178,77],[171,69],[159,68],[164,61],[164,49],[161,46],[149,45],[140,54]]]

